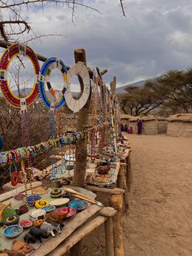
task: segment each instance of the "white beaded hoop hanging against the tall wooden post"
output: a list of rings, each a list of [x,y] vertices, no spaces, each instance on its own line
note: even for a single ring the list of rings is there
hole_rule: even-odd
[[[74,77],[75,75],[78,75],[82,78],[82,82],[84,85],[84,89],[83,91],[81,91],[80,99],[74,99],[72,97],[70,81],[72,77]],[[66,90],[64,93],[64,97],[66,100],[66,104],[68,105],[68,108],[70,108],[73,111],[73,113],[79,112],[79,110],[85,106],[87,100],[89,99],[90,93],[89,71],[86,68],[85,64],[79,61],[77,64],[73,65],[72,68],[68,70],[67,82],[65,87]]]

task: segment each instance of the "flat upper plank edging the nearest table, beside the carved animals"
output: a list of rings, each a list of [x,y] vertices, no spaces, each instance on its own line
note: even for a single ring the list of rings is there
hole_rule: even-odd
[[[43,256],[50,254],[56,247],[58,247],[68,236],[72,234],[78,227],[85,223],[91,216],[101,210],[98,205],[90,205],[87,209],[83,210],[80,214],[77,214],[75,218],[72,218],[68,222],[59,236],[54,239],[45,241],[36,251],[33,252],[33,256]],[[52,255],[52,254],[51,254]]]

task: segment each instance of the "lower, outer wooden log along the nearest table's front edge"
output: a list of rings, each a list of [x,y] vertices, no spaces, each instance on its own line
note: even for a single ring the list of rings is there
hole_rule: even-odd
[[[106,221],[106,219],[106,217],[98,216],[92,221],[89,221],[89,223],[86,223],[83,227],[79,227],[76,232],[72,234],[72,236],[69,236],[66,241],[64,241],[61,245],[59,245],[58,248],[56,248],[48,255],[63,256],[63,254],[67,253],[73,245],[76,245],[76,243],[81,241],[85,236],[89,235],[90,232],[93,232],[97,227],[101,226]],[[39,256],[40,254],[37,255]]]

